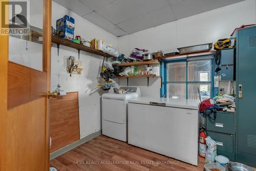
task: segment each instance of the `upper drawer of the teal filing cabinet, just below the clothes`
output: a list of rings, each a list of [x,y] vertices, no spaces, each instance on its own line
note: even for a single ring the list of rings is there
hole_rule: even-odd
[[[206,130],[221,133],[234,133],[234,115],[233,114],[216,114],[216,120],[213,122],[209,117],[206,118]]]

